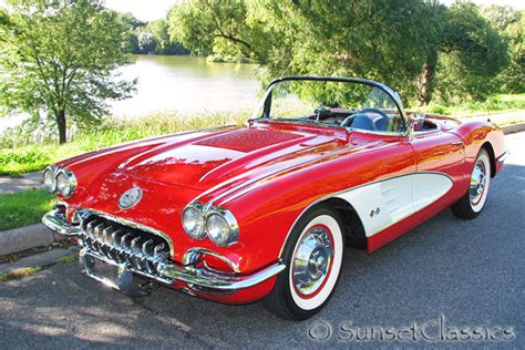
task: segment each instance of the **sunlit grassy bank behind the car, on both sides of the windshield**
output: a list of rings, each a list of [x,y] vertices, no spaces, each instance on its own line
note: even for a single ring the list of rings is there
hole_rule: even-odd
[[[428,105],[408,109],[418,112],[432,112],[469,117],[496,112],[525,110],[525,94],[494,95],[484,103],[464,103],[461,105]],[[236,113],[203,113],[196,115],[152,114],[136,120],[107,119],[103,125],[89,132],[78,132],[72,142],[56,145],[54,142],[31,143],[31,140],[11,136],[2,137],[0,144],[0,175],[18,176],[23,173],[43,169],[48,164],[60,159],[128,141],[167,133],[198,130],[218,125],[243,124],[250,115],[249,111]],[[505,120],[505,124],[523,120]],[[497,123],[497,121],[496,121]]]

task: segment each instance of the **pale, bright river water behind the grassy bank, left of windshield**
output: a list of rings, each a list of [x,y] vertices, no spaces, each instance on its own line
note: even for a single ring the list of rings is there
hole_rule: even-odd
[[[111,103],[111,114],[140,117],[155,112],[217,112],[253,110],[260,95],[256,64],[210,63],[187,55],[132,56],[120,69],[123,78],[137,79],[130,99]],[[3,117],[0,133],[23,121]]]

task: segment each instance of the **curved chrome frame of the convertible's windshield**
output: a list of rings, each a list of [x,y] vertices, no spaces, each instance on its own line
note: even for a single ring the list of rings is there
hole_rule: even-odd
[[[265,94],[262,95],[261,102],[258,104],[257,109],[254,111],[254,114],[251,115],[251,120],[255,121],[272,121],[274,119],[271,116],[266,116],[266,115],[257,115],[258,112],[262,110],[262,113],[266,113],[266,104],[268,102],[268,97],[271,95],[274,92],[274,87],[285,81],[319,81],[319,82],[336,82],[336,83],[358,83],[358,84],[364,84],[373,87],[379,87],[383,92],[385,92],[392,101],[395,103],[398,106],[399,112],[401,113],[402,117],[404,119],[404,125],[405,125],[405,131],[403,132],[384,132],[384,131],[371,131],[371,130],[361,130],[361,128],[352,128],[352,127],[346,127],[346,130],[352,132],[362,132],[367,134],[375,134],[375,135],[387,135],[387,136],[408,136],[410,135],[410,124],[409,124],[409,117],[406,115],[406,112],[404,111],[403,107],[403,102],[401,101],[399,94],[391,89],[388,85],[384,85],[382,83],[378,83],[373,80],[368,80],[368,79],[362,79],[362,78],[336,78],[336,76],[322,76],[322,75],[288,75],[288,76],[281,76],[278,79],[272,80]],[[277,121],[277,120],[275,120]],[[282,122],[282,121],[278,121]],[[318,125],[318,124],[315,124]],[[337,127],[338,125],[333,125],[332,127]]]

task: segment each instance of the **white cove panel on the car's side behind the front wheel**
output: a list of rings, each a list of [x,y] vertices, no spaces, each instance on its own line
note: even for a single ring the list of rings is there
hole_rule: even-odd
[[[367,237],[371,237],[431,205],[446,194],[452,184],[446,174],[414,173],[359,186],[336,197],[353,206]]]

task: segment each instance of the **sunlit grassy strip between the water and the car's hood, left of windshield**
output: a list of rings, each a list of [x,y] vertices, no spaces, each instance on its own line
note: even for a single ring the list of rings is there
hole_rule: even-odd
[[[31,144],[16,137],[0,145],[0,175],[18,176],[43,169],[47,165],[87,151],[111,145],[218,125],[245,123],[250,113],[206,113],[202,115],[152,114],[137,120],[109,119],[97,128],[76,133],[72,142]]]

